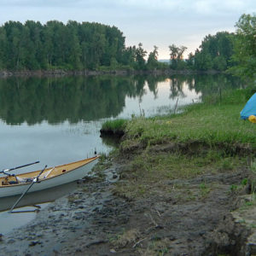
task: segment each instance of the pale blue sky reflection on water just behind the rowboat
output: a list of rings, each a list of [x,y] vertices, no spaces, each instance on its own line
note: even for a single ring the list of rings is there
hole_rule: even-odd
[[[20,166],[40,160],[40,164],[26,168],[38,170],[44,165],[56,166],[94,155],[94,150],[108,152],[102,145],[100,122],[79,122],[59,125],[47,122],[37,125],[6,125],[0,122],[0,163],[3,168]],[[0,167],[0,168],[1,168]],[[20,172],[25,172],[20,169]]]

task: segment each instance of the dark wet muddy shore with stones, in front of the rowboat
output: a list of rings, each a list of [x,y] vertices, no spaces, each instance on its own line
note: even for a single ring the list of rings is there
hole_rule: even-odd
[[[38,212],[30,224],[1,236],[0,255],[255,253],[247,242],[253,230],[232,214],[247,188],[230,193],[230,185],[248,176],[247,168],[166,180],[169,193],[159,189],[129,200],[113,193],[115,183],[125,182],[129,160],[107,161],[103,179],[80,183],[78,190]],[[198,189],[202,182],[211,183],[211,191]]]

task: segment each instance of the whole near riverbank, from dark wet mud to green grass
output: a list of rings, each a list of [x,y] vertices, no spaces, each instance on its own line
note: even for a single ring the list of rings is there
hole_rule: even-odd
[[[208,107],[131,119],[119,150],[102,157],[94,177],[2,236],[2,252],[255,253],[255,125],[239,119],[246,101],[238,90]]]

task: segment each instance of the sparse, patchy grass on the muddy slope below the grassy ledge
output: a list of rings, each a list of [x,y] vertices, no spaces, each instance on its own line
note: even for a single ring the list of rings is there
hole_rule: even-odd
[[[229,165],[226,164],[229,162]],[[216,152],[204,155],[187,155],[179,153],[148,153],[137,154],[126,171],[121,175],[120,183],[115,184],[113,192],[128,200],[156,195],[160,191],[170,190],[166,181],[195,178],[204,174],[236,172],[237,166],[244,166],[246,160],[240,157],[223,157]],[[182,189],[186,189],[183,186]],[[199,187],[199,197],[206,196],[211,187],[202,183]],[[183,192],[183,200],[190,196]],[[197,196],[198,197],[198,196]]]

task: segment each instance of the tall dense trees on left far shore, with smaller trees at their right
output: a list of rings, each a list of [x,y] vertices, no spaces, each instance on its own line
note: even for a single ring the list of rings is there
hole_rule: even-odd
[[[9,21],[0,26],[0,70],[146,69],[157,64],[157,47],[125,47],[123,32],[95,22]]]

